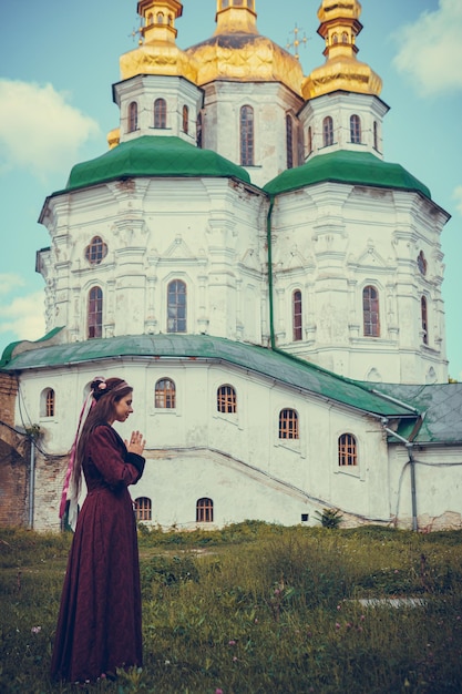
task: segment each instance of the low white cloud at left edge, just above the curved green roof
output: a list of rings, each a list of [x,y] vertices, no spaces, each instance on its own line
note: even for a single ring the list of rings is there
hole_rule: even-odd
[[[4,275],[1,275],[4,277]],[[43,292],[17,296],[0,306],[0,336],[12,333],[13,339],[35,340],[45,334]]]

